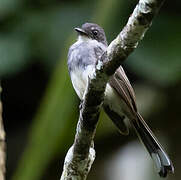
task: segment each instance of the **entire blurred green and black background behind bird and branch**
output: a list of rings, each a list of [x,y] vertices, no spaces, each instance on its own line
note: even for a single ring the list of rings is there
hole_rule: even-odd
[[[67,72],[73,28],[101,25],[109,42],[136,0],[0,0],[0,77],[7,138],[7,179],[58,180],[71,146],[79,100]],[[181,178],[181,2],[166,1],[123,64],[140,112]],[[88,180],[159,179],[135,134],[121,136],[101,113]]]

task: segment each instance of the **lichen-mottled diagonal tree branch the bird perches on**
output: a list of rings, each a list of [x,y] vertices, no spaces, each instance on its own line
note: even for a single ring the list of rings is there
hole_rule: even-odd
[[[95,159],[93,138],[107,81],[144,37],[164,0],[140,0],[120,34],[98,60],[80,105],[73,146],[69,149],[61,180],[85,180]]]

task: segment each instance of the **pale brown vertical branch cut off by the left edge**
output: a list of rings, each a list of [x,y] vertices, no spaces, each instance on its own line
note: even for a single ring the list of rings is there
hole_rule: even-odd
[[[0,87],[0,95],[1,95]],[[2,119],[2,102],[0,98],[0,180],[5,180],[6,153],[5,153],[5,131]]]

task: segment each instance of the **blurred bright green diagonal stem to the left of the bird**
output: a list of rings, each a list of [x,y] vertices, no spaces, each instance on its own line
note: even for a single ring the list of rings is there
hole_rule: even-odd
[[[111,10],[111,3],[109,1],[109,8],[106,8],[107,11]],[[105,5],[107,6],[108,4]],[[66,44],[71,44],[69,42],[68,38]],[[73,114],[77,112],[75,111],[77,108],[75,103],[72,102],[74,98],[70,96],[70,94],[74,94],[73,90],[69,84],[67,85],[67,83],[70,83],[67,68],[65,68],[68,47],[65,49],[65,54],[63,53],[61,57],[62,61],[56,67],[41,109],[34,120],[30,143],[27,145],[21,164],[13,178],[15,180],[39,179],[54,154],[58,150],[59,154],[64,152],[66,147],[70,145],[69,140],[72,138],[68,139],[68,137],[72,134],[70,132],[74,132],[75,126],[71,125],[76,122],[76,116]],[[22,169],[24,169],[23,172]]]

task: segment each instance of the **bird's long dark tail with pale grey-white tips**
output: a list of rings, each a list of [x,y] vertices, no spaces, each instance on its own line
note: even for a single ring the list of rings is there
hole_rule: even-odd
[[[153,159],[160,177],[166,177],[168,172],[174,173],[171,160],[139,113],[137,120],[133,120],[132,124]]]

